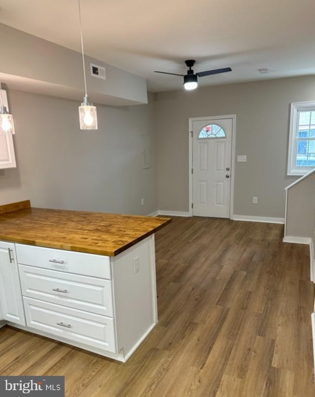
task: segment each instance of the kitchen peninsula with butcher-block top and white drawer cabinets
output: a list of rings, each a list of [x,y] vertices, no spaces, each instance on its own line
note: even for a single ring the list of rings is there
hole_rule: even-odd
[[[170,221],[0,206],[2,324],[126,362],[158,322],[154,233]]]

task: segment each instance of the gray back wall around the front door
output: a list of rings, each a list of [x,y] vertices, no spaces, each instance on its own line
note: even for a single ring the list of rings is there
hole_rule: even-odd
[[[189,211],[189,118],[236,114],[234,214],[283,218],[289,105],[310,100],[311,76],[156,93],[158,209]]]

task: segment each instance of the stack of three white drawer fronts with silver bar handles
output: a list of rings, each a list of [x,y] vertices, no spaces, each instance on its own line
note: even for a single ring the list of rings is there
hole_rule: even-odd
[[[27,326],[116,353],[109,257],[16,244]]]

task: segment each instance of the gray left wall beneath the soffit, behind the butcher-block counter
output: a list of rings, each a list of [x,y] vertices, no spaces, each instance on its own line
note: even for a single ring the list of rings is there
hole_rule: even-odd
[[[152,100],[129,107],[98,105],[99,129],[89,132],[79,129],[76,101],[7,93],[17,168],[0,170],[0,204],[30,199],[33,207],[44,208],[157,210],[155,168],[142,168],[142,135],[149,134],[154,145]]]

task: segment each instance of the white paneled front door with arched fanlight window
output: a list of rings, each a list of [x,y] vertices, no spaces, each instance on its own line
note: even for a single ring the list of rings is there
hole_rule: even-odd
[[[230,217],[233,118],[192,121],[192,214]]]

